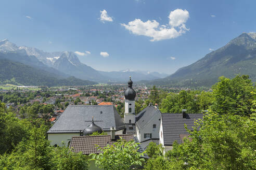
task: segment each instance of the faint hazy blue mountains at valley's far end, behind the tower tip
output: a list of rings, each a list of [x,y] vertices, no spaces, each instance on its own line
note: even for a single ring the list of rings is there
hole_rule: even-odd
[[[140,80],[153,80],[162,77],[168,76],[167,74],[160,74],[158,72],[148,72],[148,71],[140,71],[140,70],[120,70],[119,72],[103,72],[99,71],[101,75],[109,77],[109,81],[114,82],[126,82],[127,77],[132,76],[133,81],[140,81]]]

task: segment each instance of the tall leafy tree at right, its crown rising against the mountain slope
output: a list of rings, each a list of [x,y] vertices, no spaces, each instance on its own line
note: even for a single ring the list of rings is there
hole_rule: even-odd
[[[211,109],[219,114],[251,114],[254,87],[249,76],[236,76],[233,79],[220,77],[213,86],[213,104]]]

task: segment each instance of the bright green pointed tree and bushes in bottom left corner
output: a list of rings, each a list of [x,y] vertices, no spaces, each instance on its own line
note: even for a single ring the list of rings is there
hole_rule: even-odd
[[[74,153],[67,147],[50,146],[46,136],[48,126],[44,121],[37,119],[29,127],[28,138],[23,137],[10,154],[0,155],[0,169],[87,169],[88,161],[82,153]]]

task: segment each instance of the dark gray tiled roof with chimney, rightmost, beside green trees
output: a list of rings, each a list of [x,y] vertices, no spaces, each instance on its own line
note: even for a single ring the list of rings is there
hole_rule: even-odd
[[[175,140],[178,144],[183,143],[181,136],[189,134],[184,124],[189,130],[193,130],[194,122],[202,118],[203,114],[186,114],[186,118],[183,118],[182,114],[162,114],[164,145],[172,145]]]

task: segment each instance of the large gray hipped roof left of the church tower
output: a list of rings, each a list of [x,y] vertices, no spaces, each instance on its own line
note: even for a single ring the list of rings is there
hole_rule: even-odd
[[[92,117],[94,123],[103,131],[110,131],[111,126],[116,130],[125,128],[113,105],[71,105],[63,111],[47,133],[79,133],[92,123]]]

